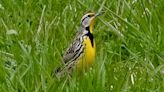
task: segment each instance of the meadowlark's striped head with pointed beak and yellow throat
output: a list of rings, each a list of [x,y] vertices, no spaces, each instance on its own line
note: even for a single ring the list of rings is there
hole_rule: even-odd
[[[100,15],[99,13],[87,13],[81,19],[81,27],[93,32],[95,18]]]

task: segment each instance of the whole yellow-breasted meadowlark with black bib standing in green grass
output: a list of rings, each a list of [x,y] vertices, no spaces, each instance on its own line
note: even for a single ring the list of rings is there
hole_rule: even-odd
[[[85,70],[94,63],[96,45],[92,33],[98,15],[100,13],[87,13],[82,17],[80,30],[63,56],[64,66],[56,70],[57,77],[71,73],[75,69]]]

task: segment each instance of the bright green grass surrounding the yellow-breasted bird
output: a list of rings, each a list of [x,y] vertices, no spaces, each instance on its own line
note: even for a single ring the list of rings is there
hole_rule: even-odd
[[[51,76],[87,11],[104,11],[94,36],[96,63]],[[164,91],[163,0],[1,0],[1,92]]]

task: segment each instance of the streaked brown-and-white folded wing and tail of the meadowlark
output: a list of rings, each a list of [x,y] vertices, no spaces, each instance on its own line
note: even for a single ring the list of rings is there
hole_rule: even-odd
[[[75,39],[73,43],[69,46],[69,48],[66,50],[64,56],[63,56],[63,61],[64,61],[64,66],[61,68],[58,68],[55,70],[55,75],[57,78],[63,77],[65,74],[70,74],[72,72],[72,69],[74,68],[75,61],[80,54],[81,49],[82,49],[82,43],[80,42],[79,39]]]

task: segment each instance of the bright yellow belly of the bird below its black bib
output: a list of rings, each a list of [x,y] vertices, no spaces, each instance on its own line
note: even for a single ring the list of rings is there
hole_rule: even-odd
[[[87,37],[84,39],[84,55],[81,57],[81,59],[77,63],[78,70],[85,70],[89,68],[95,60],[95,52],[96,52],[96,46],[94,42],[94,46],[92,47],[92,44],[90,42],[90,39]]]

